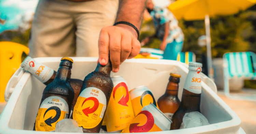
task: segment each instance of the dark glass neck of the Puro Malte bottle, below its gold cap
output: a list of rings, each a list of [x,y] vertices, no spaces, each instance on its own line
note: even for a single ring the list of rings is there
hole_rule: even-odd
[[[71,67],[61,65],[54,80],[68,81],[71,76]]]

